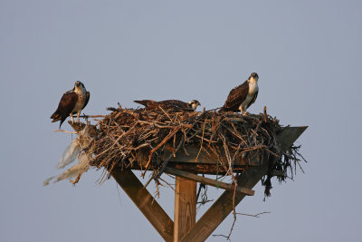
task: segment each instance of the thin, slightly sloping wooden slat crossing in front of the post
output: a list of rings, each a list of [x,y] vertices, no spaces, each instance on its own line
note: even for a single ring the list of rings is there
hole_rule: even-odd
[[[213,186],[215,188],[220,188],[220,189],[226,189],[226,190],[230,190],[230,191],[233,191],[233,184],[228,184],[228,183],[225,183],[223,181],[219,181],[219,180],[215,180],[215,179],[208,179],[208,178],[205,178],[205,177],[200,177],[200,176],[197,176],[193,173],[190,173],[190,172],[186,172],[184,170],[180,170],[180,169],[173,169],[173,168],[169,168],[167,167],[165,169],[165,171],[171,175],[175,175],[175,176],[178,176],[178,177],[181,177],[181,178],[185,178],[185,179],[191,179],[191,180],[194,180],[196,182],[200,182],[200,183],[203,183],[205,185],[210,185],[210,186]],[[236,190],[247,195],[247,196],[253,196],[254,195],[254,191],[252,189],[246,189],[246,188],[242,188],[240,186],[237,186],[236,187]]]

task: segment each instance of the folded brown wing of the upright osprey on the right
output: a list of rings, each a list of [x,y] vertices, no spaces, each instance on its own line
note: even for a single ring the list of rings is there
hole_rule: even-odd
[[[247,81],[233,88],[227,96],[224,106],[220,109],[220,111],[239,111],[239,106],[246,99],[248,92],[249,83]]]

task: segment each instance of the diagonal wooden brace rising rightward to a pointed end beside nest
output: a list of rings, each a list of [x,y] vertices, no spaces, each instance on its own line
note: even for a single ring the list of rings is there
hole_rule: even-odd
[[[278,135],[281,141],[281,150],[286,150],[291,147],[293,142],[300,137],[300,134],[308,127],[286,127]],[[264,162],[260,167],[251,167],[243,172],[242,176],[238,179],[238,184],[248,189],[252,189],[260,179],[266,174],[268,170],[268,162]],[[236,193],[234,199],[235,207],[245,197],[242,193]],[[225,190],[224,193],[218,198],[214,204],[209,208],[204,216],[200,218],[195,227],[193,227],[181,242],[186,241],[205,241],[214,229],[218,227],[224,218],[226,218],[233,211],[233,192]]]

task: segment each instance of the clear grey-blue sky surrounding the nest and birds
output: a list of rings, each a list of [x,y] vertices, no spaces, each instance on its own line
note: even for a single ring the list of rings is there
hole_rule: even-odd
[[[113,179],[98,184],[100,171],[43,187],[71,142],[49,118],[76,80],[91,93],[84,112],[106,114],[138,99],[220,107],[252,72],[249,111],[309,125],[297,142],[309,163],[294,181],[274,179],[265,202],[258,184],[237,210],[271,214],[239,217],[232,240],[361,241],[361,11],[360,1],[0,0],[0,241],[162,240]],[[159,202],[173,218],[172,190]]]

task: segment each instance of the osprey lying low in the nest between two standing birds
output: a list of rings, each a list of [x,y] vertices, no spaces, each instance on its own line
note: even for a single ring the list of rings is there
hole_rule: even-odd
[[[154,100],[135,100],[146,107],[146,109],[155,109],[161,107],[165,110],[173,109],[179,111],[195,111],[198,105],[201,105],[197,100],[191,100],[190,102],[182,102],[179,100],[165,100],[165,101],[154,101]]]

